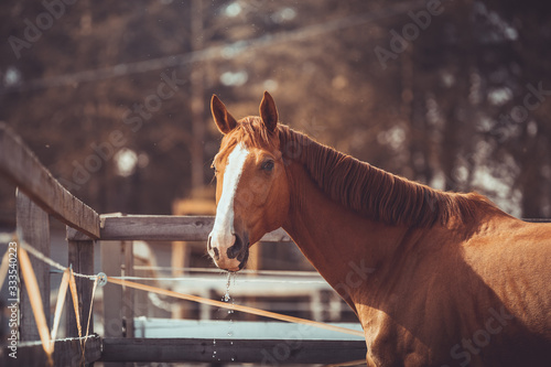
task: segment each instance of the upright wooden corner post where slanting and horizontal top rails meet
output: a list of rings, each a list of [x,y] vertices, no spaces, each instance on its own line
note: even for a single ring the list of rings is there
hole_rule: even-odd
[[[73,271],[83,274],[94,273],[94,241],[68,241],[68,263],[73,266]],[[77,277],[76,290],[78,292],[78,313],[80,314],[80,325],[83,335],[86,333],[88,323],[88,314],[90,311],[91,290],[94,282],[86,278]],[[67,296],[67,323],[66,335],[68,337],[77,337],[78,328],[73,306],[73,298]],[[94,320],[90,320],[89,334],[94,333]]]

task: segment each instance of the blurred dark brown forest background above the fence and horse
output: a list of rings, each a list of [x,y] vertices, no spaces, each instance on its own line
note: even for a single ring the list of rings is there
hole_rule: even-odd
[[[213,191],[212,94],[269,90],[323,143],[551,217],[548,1],[6,0],[0,40],[0,120],[98,213]]]

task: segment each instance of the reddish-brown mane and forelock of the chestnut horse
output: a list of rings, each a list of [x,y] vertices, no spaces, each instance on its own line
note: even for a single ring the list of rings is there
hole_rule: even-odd
[[[257,119],[240,121],[235,129],[238,141],[273,147],[279,140],[284,160],[300,162],[333,201],[371,219],[388,225],[445,226],[457,219],[469,222],[480,205],[493,206],[478,194],[442,192],[388,173],[284,125],[278,125],[278,134],[270,134]]]

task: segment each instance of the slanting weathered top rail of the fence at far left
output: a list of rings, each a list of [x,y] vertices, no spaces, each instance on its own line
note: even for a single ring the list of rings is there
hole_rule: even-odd
[[[0,174],[46,213],[93,238],[99,237],[99,215],[63,187],[21,138],[1,122]]]

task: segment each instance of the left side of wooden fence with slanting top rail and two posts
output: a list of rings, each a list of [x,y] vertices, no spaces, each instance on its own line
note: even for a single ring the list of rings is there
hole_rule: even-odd
[[[6,125],[0,125],[0,174],[17,186],[17,231],[20,241],[31,244],[35,249],[50,256],[50,215],[71,228],[88,236],[85,240],[68,241],[68,262],[75,272],[94,273],[94,240],[100,236],[100,217],[89,206],[73,196],[40,163],[34,153]],[[50,325],[50,266],[31,257],[42,294],[44,315]],[[22,279],[22,277],[20,277]],[[91,282],[77,279],[80,315],[87,314],[90,305]],[[21,280],[19,303],[18,359],[8,356],[2,348],[3,366],[42,366],[45,353],[40,343],[37,327],[31,310],[25,284]],[[67,337],[78,337],[76,317],[71,298],[66,307]],[[93,337],[86,345],[88,363],[99,359],[100,339]],[[56,341],[55,366],[69,366],[80,358],[78,341]]]

